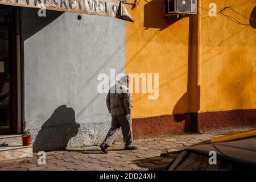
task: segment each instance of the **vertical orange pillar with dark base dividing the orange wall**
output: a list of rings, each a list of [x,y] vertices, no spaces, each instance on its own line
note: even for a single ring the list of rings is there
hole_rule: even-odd
[[[200,62],[201,62],[201,1],[197,1],[197,15],[189,17],[189,56],[188,56],[188,93],[189,93],[189,133],[200,133]]]

